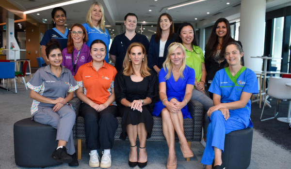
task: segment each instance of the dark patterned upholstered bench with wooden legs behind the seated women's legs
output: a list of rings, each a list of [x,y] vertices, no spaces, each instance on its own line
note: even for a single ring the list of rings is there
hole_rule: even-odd
[[[154,102],[150,104],[150,107],[153,109],[154,103],[159,100],[159,97],[156,97]],[[78,139],[78,159],[81,159],[81,140],[85,139],[85,123],[84,118],[79,116],[79,109],[81,105],[81,100],[77,97],[74,97],[69,103],[72,104],[73,108],[75,109],[76,113],[76,123],[74,125],[76,129],[75,133],[76,136],[74,139]],[[195,117],[194,119],[184,119],[184,133],[185,137],[191,145],[191,141],[201,141],[202,135],[202,123],[203,123],[203,105],[196,101],[190,100],[188,103],[188,110],[189,112],[194,112]],[[117,117],[118,121],[118,128],[115,132],[114,139],[119,140],[119,136],[121,134],[121,117]],[[154,126],[152,130],[151,138],[147,139],[147,141],[166,141],[163,132],[162,132],[162,117],[153,117],[154,119]],[[74,132],[74,131],[73,131]],[[127,139],[128,140],[128,139]],[[175,141],[179,141],[178,135],[175,135]],[[189,161],[190,158],[187,158]]]

